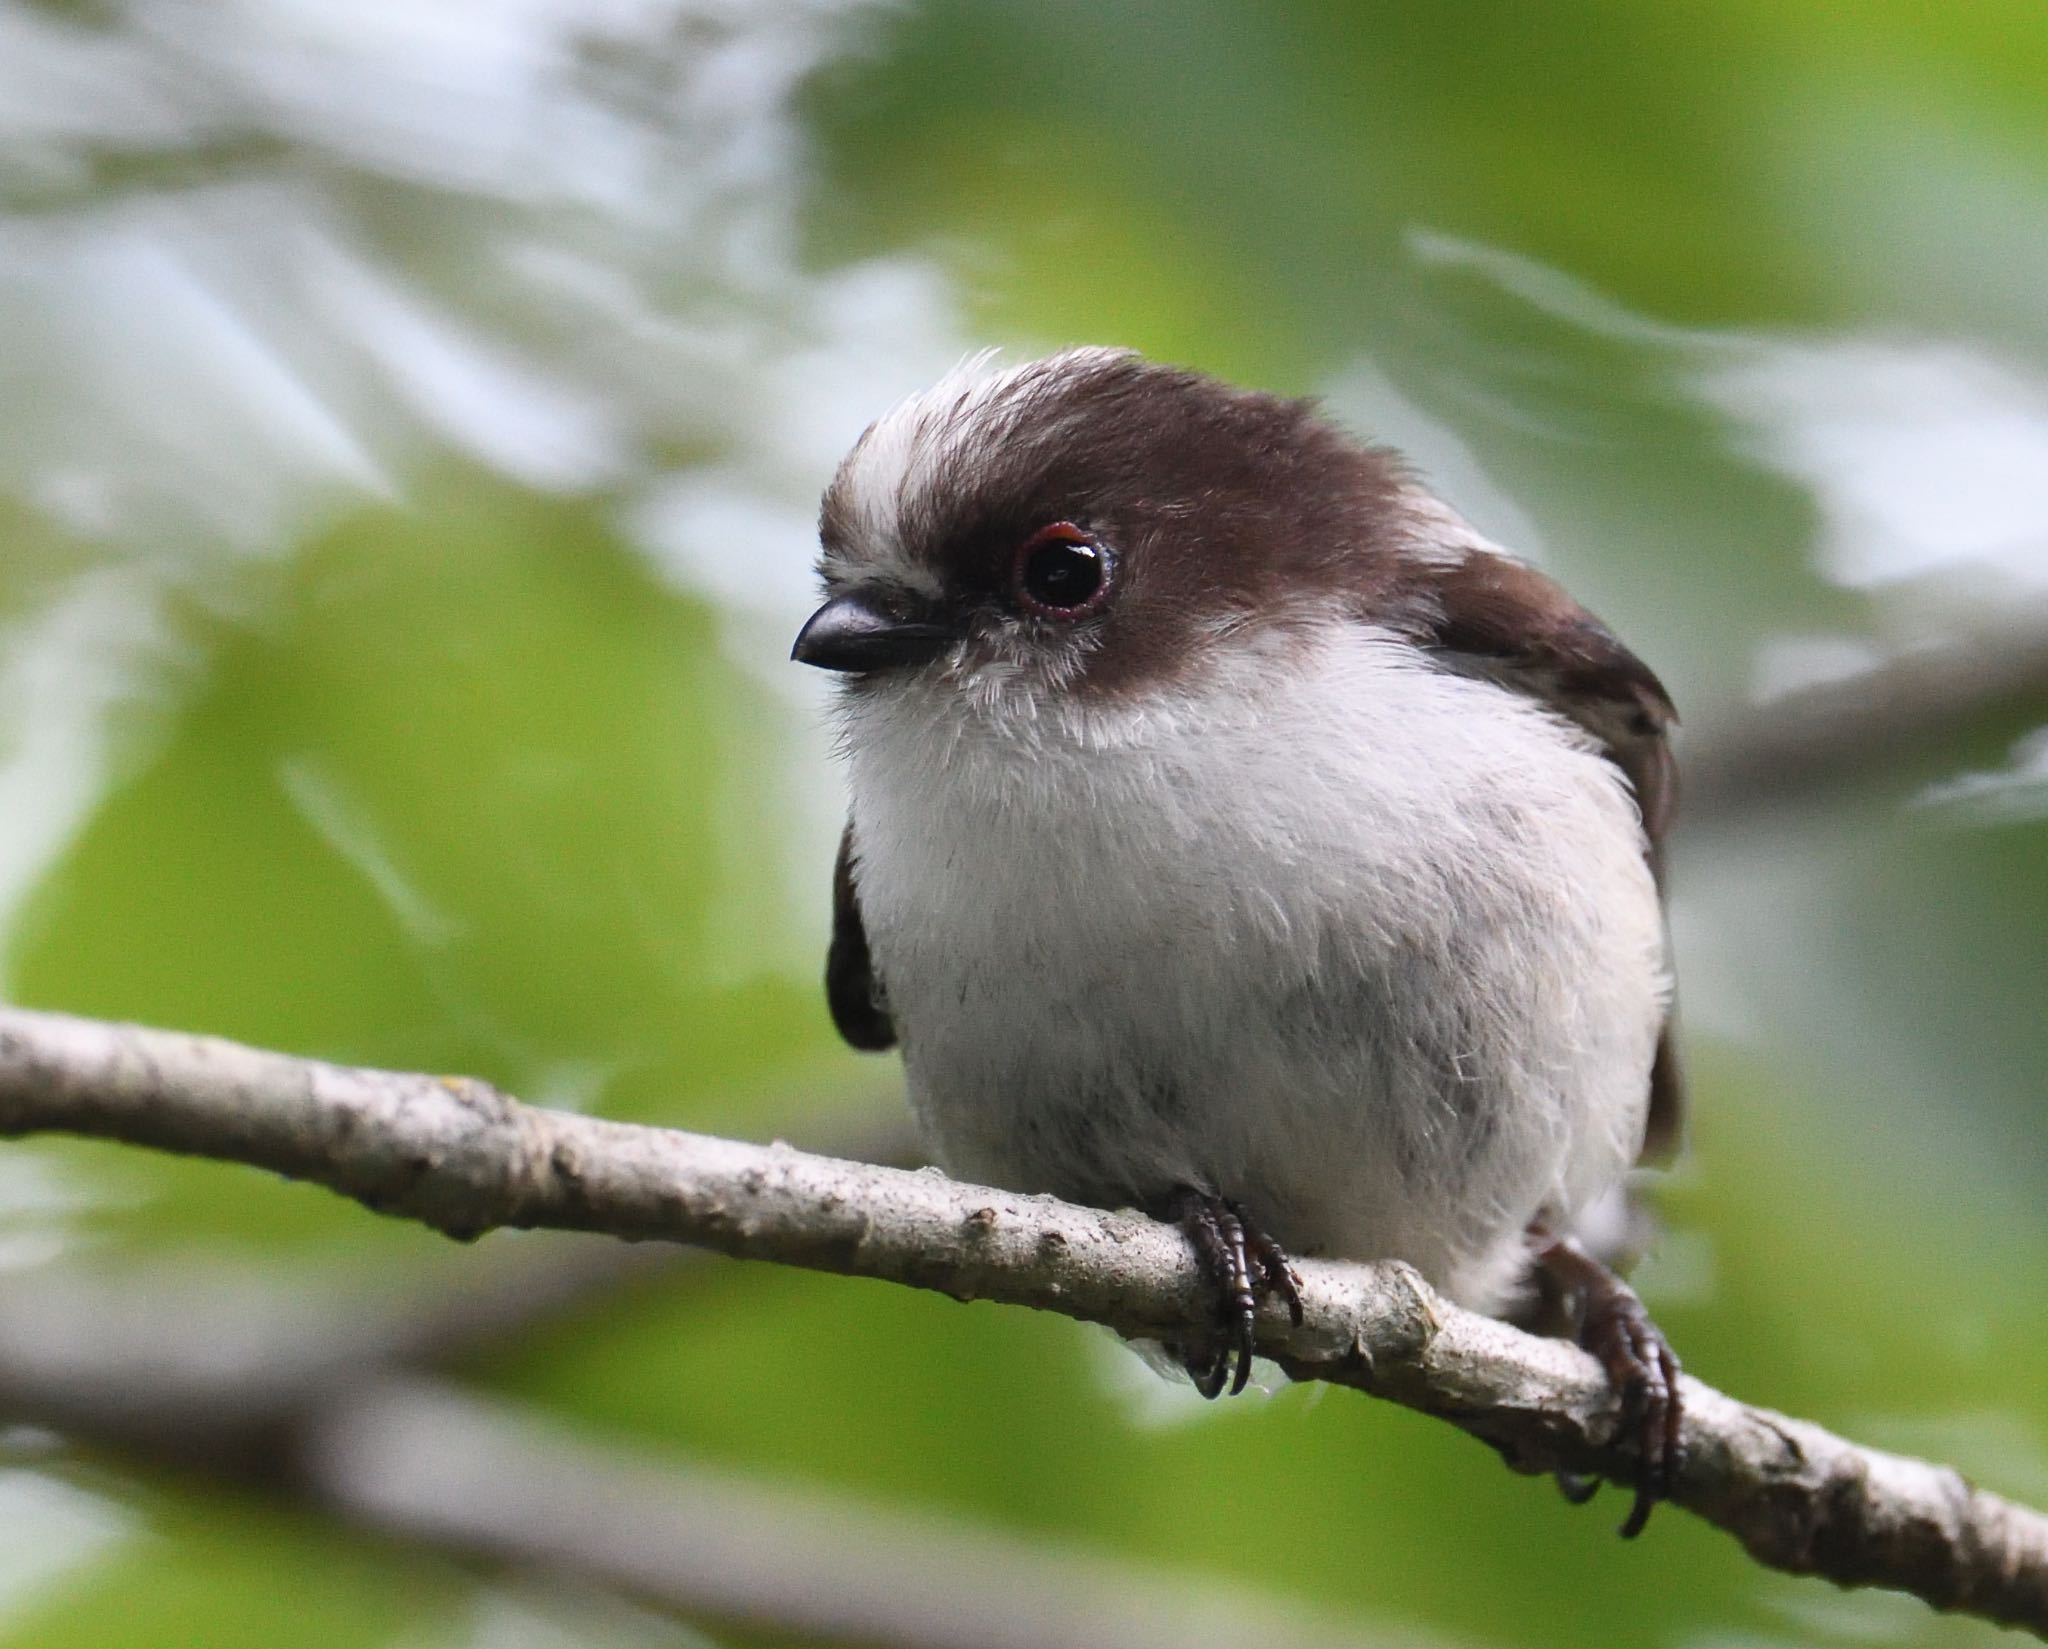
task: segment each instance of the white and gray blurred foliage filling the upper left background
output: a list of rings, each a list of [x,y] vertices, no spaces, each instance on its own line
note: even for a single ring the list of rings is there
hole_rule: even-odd
[[[958,352],[926,266],[799,258],[793,98],[877,10],[129,0],[88,27],[0,0],[0,191],[35,207],[0,221],[0,492],[70,557],[0,633],[0,932],[135,748],[115,725],[176,692],[172,596],[231,598],[436,455],[600,492],[815,690],[782,660],[817,490]],[[805,774],[766,811],[809,866],[821,750]],[[346,856],[420,918],[375,840]],[[786,963],[791,926],[733,912],[719,955]]]

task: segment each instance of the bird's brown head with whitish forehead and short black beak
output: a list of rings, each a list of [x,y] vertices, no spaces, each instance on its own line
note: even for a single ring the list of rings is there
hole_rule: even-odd
[[[840,465],[819,518],[827,600],[795,658],[856,694],[1143,703],[1405,600],[1421,500],[1393,455],[1305,401],[1122,350],[973,363]]]

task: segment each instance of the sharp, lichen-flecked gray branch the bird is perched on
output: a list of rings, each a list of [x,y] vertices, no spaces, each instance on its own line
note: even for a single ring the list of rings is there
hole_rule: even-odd
[[[459,1237],[512,1227],[715,1248],[1174,1334],[1208,1299],[1180,1233],[1128,1213],[539,1110],[465,1077],[367,1071],[0,1010],[0,1133],[57,1131],[268,1168]],[[1391,1397],[1528,1471],[1628,1479],[1591,1358],[1460,1311],[1407,1266],[1300,1266],[1307,1319],[1260,1350]],[[2048,1518],[1688,1379],[1673,1499],[1749,1553],[2048,1637]]]

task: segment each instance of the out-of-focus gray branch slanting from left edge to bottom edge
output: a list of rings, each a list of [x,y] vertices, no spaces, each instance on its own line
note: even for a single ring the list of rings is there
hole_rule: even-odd
[[[532,1256],[528,1256],[532,1258]],[[0,1278],[0,1415],[690,1620],[895,1649],[1366,1649],[1380,1622],[575,1436],[403,1366],[403,1305],[248,1274]],[[391,1329],[399,1327],[397,1338]],[[440,1346],[430,1346],[440,1350]]]

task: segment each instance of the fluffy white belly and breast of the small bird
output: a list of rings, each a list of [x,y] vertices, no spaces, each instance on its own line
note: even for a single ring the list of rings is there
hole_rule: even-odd
[[[1161,713],[846,705],[856,885],[954,1174],[1241,1198],[1497,1307],[1632,1161],[1663,1016],[1634,803],[1528,701],[1341,631]]]

